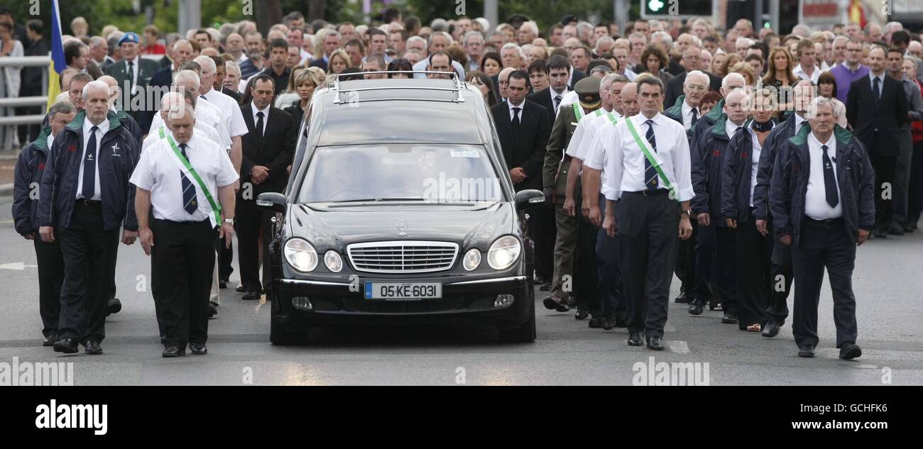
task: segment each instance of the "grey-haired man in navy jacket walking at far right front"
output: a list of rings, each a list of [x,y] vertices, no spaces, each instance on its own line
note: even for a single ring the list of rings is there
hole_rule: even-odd
[[[857,136],[837,127],[831,100],[809,107],[809,125],[780,148],[773,172],[770,207],[775,237],[792,248],[798,357],[814,357],[817,306],[824,267],[833,291],[833,323],[840,359],[862,355],[856,344],[856,297],[852,289],[856,247],[875,227],[875,172]],[[845,172],[849,176],[836,176]],[[795,187],[807,186],[807,187]]]

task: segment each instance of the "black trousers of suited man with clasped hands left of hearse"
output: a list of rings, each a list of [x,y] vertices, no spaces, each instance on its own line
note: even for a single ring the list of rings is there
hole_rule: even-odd
[[[234,211],[237,231],[237,264],[240,266],[240,281],[246,291],[261,291],[264,287],[259,276],[259,254],[263,254],[266,278],[270,270],[269,244],[271,233],[270,218],[272,214],[260,210],[257,202],[250,199],[237,198],[237,208]],[[259,245],[259,236],[263,236],[262,247]]]

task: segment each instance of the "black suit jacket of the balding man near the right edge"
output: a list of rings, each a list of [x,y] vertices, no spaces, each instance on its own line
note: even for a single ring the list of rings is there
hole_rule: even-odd
[[[871,92],[869,77],[853,81],[846,96],[846,121],[852,124],[869,155],[896,156],[900,129],[907,122],[903,82],[885,75],[879,100]]]

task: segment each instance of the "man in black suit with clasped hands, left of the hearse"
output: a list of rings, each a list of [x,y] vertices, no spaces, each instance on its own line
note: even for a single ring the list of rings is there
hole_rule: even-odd
[[[237,259],[240,264],[244,300],[258,300],[270,270],[263,268],[259,277],[259,251],[269,261],[270,213],[257,207],[257,197],[264,192],[282,192],[288,183],[288,166],[294,157],[295,126],[292,115],[272,107],[275,83],[267,75],[254,78],[250,93],[253,101],[241,108],[247,134],[243,137],[244,158],[241,164],[241,189],[237,194]],[[262,232],[263,245],[258,238]]]

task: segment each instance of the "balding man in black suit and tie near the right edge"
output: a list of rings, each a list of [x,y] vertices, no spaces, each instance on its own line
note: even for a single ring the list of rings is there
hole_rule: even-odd
[[[886,55],[884,47],[871,49],[869,77],[853,81],[846,97],[846,120],[868,148],[875,168],[875,237],[887,237],[890,228],[900,227],[893,220],[892,189],[900,150],[898,137],[907,122],[904,85],[885,74]]]

